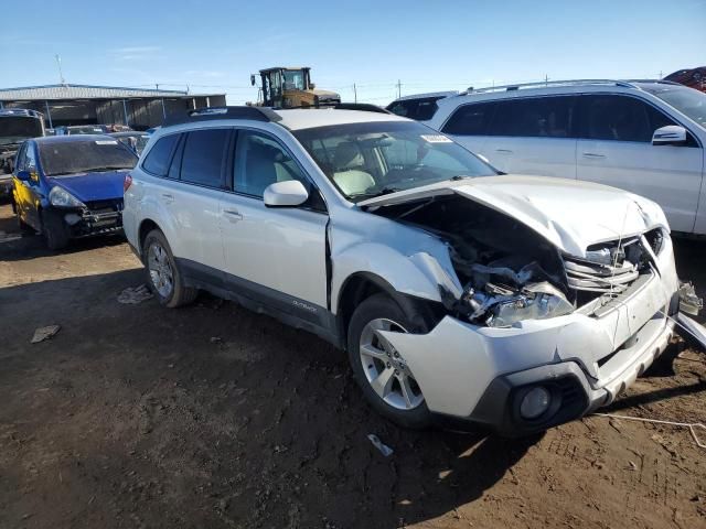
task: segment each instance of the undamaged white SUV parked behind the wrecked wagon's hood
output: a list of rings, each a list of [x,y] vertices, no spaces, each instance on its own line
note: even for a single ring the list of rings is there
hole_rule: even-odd
[[[613,185],[664,209],[675,231],[706,235],[706,94],[662,80],[575,80],[391,104],[501,171]]]

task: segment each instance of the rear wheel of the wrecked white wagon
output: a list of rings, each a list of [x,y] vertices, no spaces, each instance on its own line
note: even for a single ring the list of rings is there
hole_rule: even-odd
[[[150,290],[162,305],[175,309],[196,299],[199,290],[184,284],[167,237],[159,229],[153,229],[145,237],[142,259]]]

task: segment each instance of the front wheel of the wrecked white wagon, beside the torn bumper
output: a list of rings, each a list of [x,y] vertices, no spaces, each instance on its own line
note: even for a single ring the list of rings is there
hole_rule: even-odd
[[[431,425],[431,413],[404,354],[379,331],[428,331],[420,321],[421,314],[407,314],[388,295],[376,294],[357,306],[347,332],[349,360],[363,395],[381,415],[410,429]]]

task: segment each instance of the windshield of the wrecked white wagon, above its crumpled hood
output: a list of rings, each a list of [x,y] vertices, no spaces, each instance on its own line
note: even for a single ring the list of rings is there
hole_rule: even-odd
[[[416,122],[336,125],[295,136],[352,202],[453,177],[498,174],[446,136]]]

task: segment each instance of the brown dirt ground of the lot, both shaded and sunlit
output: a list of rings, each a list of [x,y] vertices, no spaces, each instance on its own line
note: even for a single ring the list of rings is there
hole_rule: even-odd
[[[705,295],[706,242],[677,262]],[[117,302],[143,281],[122,240],[53,253],[0,206],[0,528],[706,527],[686,429],[403,431],[324,342],[207,295]],[[705,360],[675,341],[610,411],[706,422]]]

